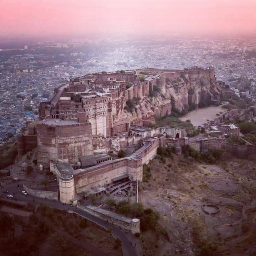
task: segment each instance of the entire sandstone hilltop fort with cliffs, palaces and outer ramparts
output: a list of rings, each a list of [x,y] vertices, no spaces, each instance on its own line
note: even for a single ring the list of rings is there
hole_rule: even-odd
[[[55,89],[52,100],[40,104],[40,121],[18,138],[18,153],[37,146],[38,169],[56,174],[60,200],[70,202],[77,193],[113,179],[142,180],[143,164],[166,145],[166,135],[186,136],[178,128],[151,128],[155,117],[218,104],[220,93],[213,67],[144,68],[72,78]],[[172,143],[179,148],[187,142]],[[119,159],[108,155],[120,149],[132,153]]]

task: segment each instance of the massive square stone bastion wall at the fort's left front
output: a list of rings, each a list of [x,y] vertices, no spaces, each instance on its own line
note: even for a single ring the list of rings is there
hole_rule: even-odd
[[[93,154],[91,124],[64,122],[38,124],[38,166],[49,168],[50,160],[77,162],[79,156]]]

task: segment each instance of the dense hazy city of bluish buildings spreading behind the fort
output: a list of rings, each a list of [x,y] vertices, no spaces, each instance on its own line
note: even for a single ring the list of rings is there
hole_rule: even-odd
[[[9,39],[10,40],[10,39]],[[102,70],[214,66],[217,80],[256,101],[255,38],[0,42],[0,143],[14,140],[54,88]],[[11,48],[10,48],[11,46]]]

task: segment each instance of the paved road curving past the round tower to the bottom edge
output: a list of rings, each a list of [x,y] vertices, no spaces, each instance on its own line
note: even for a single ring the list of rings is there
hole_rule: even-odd
[[[7,184],[6,184],[7,183]],[[88,212],[84,212],[81,209],[76,208],[75,206],[71,206],[69,204],[64,205],[62,202],[60,201],[54,201],[54,200],[48,200],[48,199],[44,199],[44,198],[36,198],[34,196],[30,196],[30,195],[23,195],[22,194],[22,190],[24,190],[24,188],[22,187],[22,184],[25,184],[28,187],[34,187],[36,188],[36,185],[41,186],[39,183],[31,183],[28,181],[19,181],[17,183],[15,182],[3,182],[2,180],[0,180],[0,196],[7,198],[7,194],[12,194],[13,200],[22,200],[31,204],[42,204],[51,208],[56,208],[56,209],[60,209],[60,210],[71,210],[73,212],[75,212],[76,214],[98,224],[99,226],[102,226],[103,228],[105,228],[106,230],[108,230],[109,228],[113,228],[112,234],[115,238],[120,238],[120,240],[122,241],[122,248],[125,252],[125,255],[127,256],[139,256],[138,250],[137,250],[137,245],[134,247],[134,242],[131,241],[132,238],[129,238],[129,236],[127,234],[125,234],[125,231],[123,229],[120,229],[118,226],[116,225],[112,225],[109,223],[105,223],[104,220],[93,216],[91,214],[89,214]],[[17,186],[18,185],[18,186]],[[30,186],[31,185],[31,186]],[[4,193],[4,190],[8,190],[8,193]],[[133,237],[133,236],[131,236]]]

